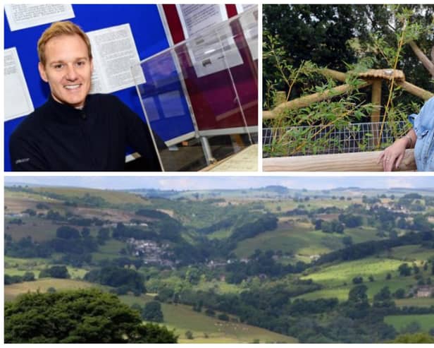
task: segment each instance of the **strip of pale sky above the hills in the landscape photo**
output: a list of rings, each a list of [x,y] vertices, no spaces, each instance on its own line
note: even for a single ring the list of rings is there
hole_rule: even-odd
[[[5,176],[4,185],[63,186],[109,190],[235,190],[285,186],[290,189],[335,188],[431,189],[434,176]]]

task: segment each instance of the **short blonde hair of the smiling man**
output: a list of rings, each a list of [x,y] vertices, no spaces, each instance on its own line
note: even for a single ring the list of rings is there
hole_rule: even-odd
[[[61,35],[78,35],[82,38],[87,46],[87,52],[89,52],[89,59],[92,59],[92,48],[90,47],[90,41],[87,34],[78,25],[66,20],[64,22],[54,22],[49,28],[47,28],[39,37],[37,42],[37,54],[39,56],[39,61],[45,66],[45,45],[53,37],[58,37]]]

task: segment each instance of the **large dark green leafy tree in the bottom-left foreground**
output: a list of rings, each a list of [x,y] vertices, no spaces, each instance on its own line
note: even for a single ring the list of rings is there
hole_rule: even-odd
[[[27,293],[5,304],[5,343],[175,343],[137,311],[99,289]]]

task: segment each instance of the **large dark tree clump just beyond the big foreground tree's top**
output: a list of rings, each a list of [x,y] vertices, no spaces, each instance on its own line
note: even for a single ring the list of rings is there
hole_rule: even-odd
[[[139,296],[146,293],[144,276],[131,268],[105,266],[99,270],[91,270],[86,273],[85,280],[115,287],[118,294],[132,292]]]

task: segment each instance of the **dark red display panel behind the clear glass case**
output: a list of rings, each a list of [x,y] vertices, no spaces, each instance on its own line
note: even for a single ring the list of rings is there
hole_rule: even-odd
[[[237,15],[235,5],[226,5],[225,9],[229,18]],[[173,43],[184,41],[178,8],[163,5],[163,12]],[[176,49],[199,131],[230,133],[230,128],[258,124],[257,59],[252,58],[240,20],[230,21],[228,30],[231,36],[228,42],[234,46],[230,52],[233,52],[232,60],[236,63],[220,71],[201,73],[188,45]],[[206,65],[206,61],[202,64]]]

